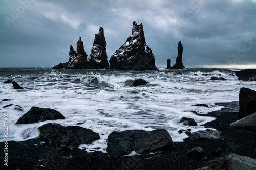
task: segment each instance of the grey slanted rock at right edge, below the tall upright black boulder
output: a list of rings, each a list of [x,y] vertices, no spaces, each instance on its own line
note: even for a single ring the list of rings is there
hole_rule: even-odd
[[[245,129],[250,132],[256,133],[256,113],[250,114],[236,122],[230,124],[233,128]]]

